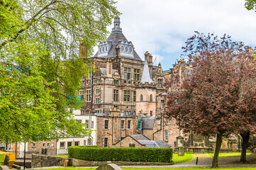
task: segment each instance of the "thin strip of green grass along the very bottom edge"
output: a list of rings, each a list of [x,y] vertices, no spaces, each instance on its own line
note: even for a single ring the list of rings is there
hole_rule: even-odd
[[[74,168],[74,167],[65,167],[57,169],[45,169],[45,170],[94,170],[96,168]],[[201,168],[201,167],[184,167],[184,168],[122,168],[123,170],[203,170],[211,168]],[[218,168],[216,170],[255,170],[255,168],[244,168],[244,167],[230,167],[230,168]],[[37,170],[37,169],[31,169]]]

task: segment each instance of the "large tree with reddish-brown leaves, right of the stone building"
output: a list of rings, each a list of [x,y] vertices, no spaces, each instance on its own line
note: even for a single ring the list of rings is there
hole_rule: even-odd
[[[182,81],[177,74],[168,82],[166,112],[181,129],[217,136],[215,168],[223,135],[255,132],[255,60],[248,47],[226,35],[196,32],[186,44],[191,72]]]

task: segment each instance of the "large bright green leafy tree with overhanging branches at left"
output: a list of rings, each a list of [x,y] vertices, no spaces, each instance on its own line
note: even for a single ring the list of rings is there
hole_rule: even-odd
[[[0,142],[88,135],[68,108],[120,13],[113,0],[0,0]]]

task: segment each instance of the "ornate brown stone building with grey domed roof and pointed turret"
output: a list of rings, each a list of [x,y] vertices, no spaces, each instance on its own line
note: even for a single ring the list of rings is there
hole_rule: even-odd
[[[111,35],[91,57],[94,71],[82,80],[79,89],[79,96],[85,101],[81,115],[96,116],[99,147],[112,147],[125,137],[138,134],[174,147],[180,132],[174,120],[165,118],[167,94],[163,86],[174,69],[162,71],[161,64],[153,64],[149,52],[144,58],[123,35],[120,18],[116,18]],[[185,72],[186,63],[181,61],[177,68]]]

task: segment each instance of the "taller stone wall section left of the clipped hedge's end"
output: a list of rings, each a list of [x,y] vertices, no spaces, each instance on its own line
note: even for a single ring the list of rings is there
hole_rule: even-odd
[[[54,157],[45,154],[32,154],[31,168],[40,168],[47,166],[70,166],[69,158]]]

